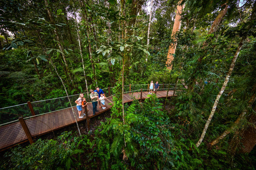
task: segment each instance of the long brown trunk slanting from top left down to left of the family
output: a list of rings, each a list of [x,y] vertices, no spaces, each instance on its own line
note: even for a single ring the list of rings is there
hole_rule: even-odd
[[[51,24],[53,24],[53,25],[55,26],[55,29],[54,29],[54,33],[55,33],[55,35],[56,35],[55,38],[56,38],[56,40],[58,41],[58,46],[59,46],[59,48],[60,48],[60,51],[62,52],[62,58],[63,58],[63,60],[64,60],[65,66],[66,66],[66,70],[67,70],[67,72],[68,72],[69,79],[70,79],[70,81],[71,81],[71,83],[72,83],[72,85],[73,85],[73,87],[74,87],[74,82],[73,82],[73,79],[72,79],[70,70],[69,70],[69,68],[68,68],[68,63],[67,63],[67,60],[66,60],[66,56],[65,56],[65,54],[63,53],[63,47],[62,47],[62,45],[60,44],[59,33],[58,33],[58,31],[57,31],[58,27],[57,27],[57,25],[55,25],[55,21],[54,21],[54,18],[53,18],[53,16],[52,16],[52,12],[51,12],[51,10],[50,10],[50,8],[49,8],[48,1],[47,1],[47,0],[44,0],[44,2],[45,2],[46,9],[47,9],[47,12],[48,12],[48,15],[49,15],[49,18],[50,18],[50,22],[51,22]]]

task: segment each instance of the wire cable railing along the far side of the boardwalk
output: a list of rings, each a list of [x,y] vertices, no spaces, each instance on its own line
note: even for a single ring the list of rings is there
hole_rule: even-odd
[[[173,90],[175,84],[170,84],[169,90]],[[149,84],[136,84],[136,85],[125,85],[124,94],[140,92],[142,89],[143,92],[149,91]],[[168,84],[159,84],[159,89],[157,91],[164,91],[168,89]],[[185,89],[183,84],[177,84],[176,89]],[[114,87],[108,87],[102,89],[105,96],[108,98],[110,96],[115,96]],[[90,92],[83,93],[87,103],[91,103]],[[70,95],[69,99],[71,101],[72,107],[76,106],[75,101],[78,99],[80,94]],[[0,109],[0,126],[5,124],[10,124],[13,122],[19,121],[18,118],[23,116],[24,119],[52,113],[58,110],[68,109],[70,103],[68,96],[58,97],[54,99],[46,99],[35,102],[28,102],[20,105],[5,107]]]

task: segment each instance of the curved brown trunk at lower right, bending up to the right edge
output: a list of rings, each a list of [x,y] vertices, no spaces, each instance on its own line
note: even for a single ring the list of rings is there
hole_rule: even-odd
[[[248,105],[247,107],[244,109],[244,111],[238,116],[238,118],[236,119],[236,121],[234,122],[234,124],[232,125],[231,128],[228,128],[227,130],[225,130],[218,138],[216,138],[215,140],[213,140],[211,142],[211,145],[216,145],[217,143],[220,142],[221,139],[225,138],[232,129],[234,129],[235,126],[237,126],[240,122],[240,120],[242,118],[244,118],[245,114],[248,112],[248,110],[252,107],[252,104],[254,103],[255,101],[255,97],[256,97],[256,94],[255,94],[255,89],[256,89],[256,83],[254,84],[253,86],[253,89],[252,89],[252,96],[250,98],[250,100],[248,101]]]

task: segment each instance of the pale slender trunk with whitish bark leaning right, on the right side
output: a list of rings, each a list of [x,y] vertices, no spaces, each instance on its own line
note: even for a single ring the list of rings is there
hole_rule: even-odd
[[[230,65],[230,67],[229,67],[228,74],[227,74],[227,76],[226,76],[226,78],[225,78],[225,81],[224,81],[224,83],[223,83],[223,85],[222,85],[222,88],[220,89],[219,94],[216,96],[215,102],[214,102],[213,107],[212,107],[212,111],[211,111],[211,113],[210,113],[210,116],[209,116],[209,118],[208,118],[206,124],[204,125],[204,130],[203,130],[203,132],[202,132],[202,135],[201,135],[200,139],[199,139],[198,142],[196,143],[196,147],[198,147],[198,146],[202,143],[202,141],[203,141],[203,139],[204,139],[204,136],[205,136],[205,133],[206,133],[206,131],[207,131],[207,128],[208,128],[209,124],[211,123],[212,117],[213,117],[213,115],[214,115],[214,113],[215,113],[215,110],[216,110],[216,107],[218,106],[218,103],[219,103],[219,100],[220,100],[220,96],[221,96],[222,93],[224,92],[224,90],[225,90],[225,88],[226,88],[226,86],[227,86],[227,84],[228,84],[229,77],[230,77],[230,75],[231,75],[231,73],[232,73],[232,71],[233,71],[233,69],[234,69],[234,67],[235,67],[236,59],[237,59],[238,54],[239,54],[239,52],[240,52],[240,50],[241,50],[241,48],[242,48],[242,46],[243,46],[243,44],[244,44],[244,39],[245,39],[245,38],[246,38],[246,37],[243,37],[243,38],[241,39],[239,45],[238,45],[238,48],[237,48],[236,53],[235,53],[235,55],[234,55],[234,58],[233,58],[233,60],[232,60],[232,62],[231,62],[231,65]]]

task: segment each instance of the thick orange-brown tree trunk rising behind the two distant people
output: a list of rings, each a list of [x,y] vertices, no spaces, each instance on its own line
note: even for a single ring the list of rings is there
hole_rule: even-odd
[[[180,27],[181,27],[181,20],[180,20],[181,15],[180,14],[182,13],[182,9],[185,7],[185,4],[180,5],[181,2],[182,2],[182,0],[180,0],[179,5],[177,6],[175,21],[174,21],[174,25],[172,28],[172,38],[174,37],[175,33],[180,31]],[[169,50],[168,50],[168,54],[167,54],[166,67],[168,69],[172,69],[173,54],[175,54],[176,46],[177,46],[177,40],[174,39],[173,43],[171,43],[169,46]]]

